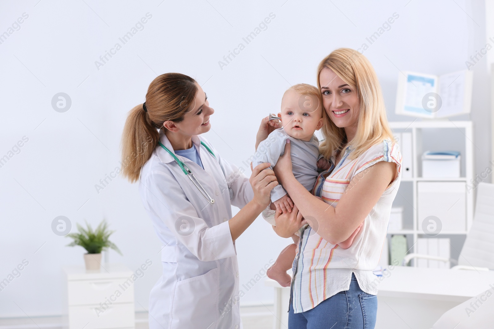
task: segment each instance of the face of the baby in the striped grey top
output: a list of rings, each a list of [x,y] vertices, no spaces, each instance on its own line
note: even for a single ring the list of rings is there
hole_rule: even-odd
[[[316,130],[323,126],[323,108],[317,97],[300,95],[289,90],[281,101],[283,128],[290,137],[310,141]]]

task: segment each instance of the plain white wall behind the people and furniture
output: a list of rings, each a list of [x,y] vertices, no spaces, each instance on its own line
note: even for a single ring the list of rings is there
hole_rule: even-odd
[[[95,61],[150,13],[152,18],[97,69]],[[0,44],[0,157],[23,136],[29,141],[0,168],[0,280],[23,259],[20,277],[0,292],[0,317],[61,312],[61,270],[82,264],[81,247],[55,235],[52,220],[67,216],[75,230],[84,219],[106,218],[112,241],[124,253],[111,261],[132,270],[153,265],[135,283],[136,310],[148,307],[161,275],[161,245],[147,218],[137,184],[113,180],[98,194],[94,185],[119,166],[126,112],[144,101],[149,83],[166,72],[205,84],[219,152],[239,166],[254,152],[260,119],[279,109],[289,85],[316,84],[320,60],[337,47],[360,48],[381,81],[390,120],[399,70],[442,74],[462,70],[485,45],[484,1],[2,1],[0,33],[29,17]],[[276,17],[250,44],[243,41],[270,13]],[[373,44],[366,37],[397,13],[399,18]],[[478,25],[477,25],[478,24]],[[246,46],[222,69],[218,61],[239,43]],[[494,50],[493,50],[494,51]],[[490,159],[489,76],[485,59],[474,69],[476,173]],[[59,113],[52,97],[67,93],[70,110]],[[468,115],[458,119],[468,119]],[[459,133],[459,132],[458,132]],[[242,284],[289,243],[262,218],[237,241]],[[246,292],[247,303],[272,302],[262,281]],[[141,306],[142,305],[142,306]]]

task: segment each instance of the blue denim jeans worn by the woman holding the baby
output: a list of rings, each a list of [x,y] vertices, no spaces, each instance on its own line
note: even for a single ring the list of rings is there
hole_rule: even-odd
[[[373,329],[377,296],[360,289],[352,273],[350,289],[338,292],[305,312],[293,313],[290,298],[288,329]]]

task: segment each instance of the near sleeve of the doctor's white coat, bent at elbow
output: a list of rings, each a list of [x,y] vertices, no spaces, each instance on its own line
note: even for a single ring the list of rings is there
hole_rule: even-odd
[[[143,201],[153,217],[161,219],[177,241],[199,260],[236,256],[228,221],[208,227],[169,169],[149,173],[141,178],[141,184]]]

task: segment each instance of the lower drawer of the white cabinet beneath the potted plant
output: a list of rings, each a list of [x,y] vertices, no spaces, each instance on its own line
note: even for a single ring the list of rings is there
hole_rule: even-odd
[[[70,306],[69,329],[135,328],[134,312],[133,303],[113,304],[106,310],[99,305]]]

